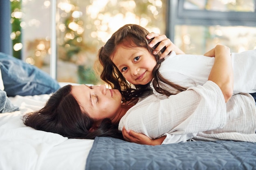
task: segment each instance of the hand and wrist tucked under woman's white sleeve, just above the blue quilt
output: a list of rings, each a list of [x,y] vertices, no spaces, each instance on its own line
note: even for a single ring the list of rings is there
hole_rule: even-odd
[[[162,136],[157,139],[150,139],[149,137],[142,133],[136,133],[132,130],[126,130],[125,128],[123,128],[122,134],[126,141],[143,145],[161,145],[164,139],[166,138],[166,136]]]

